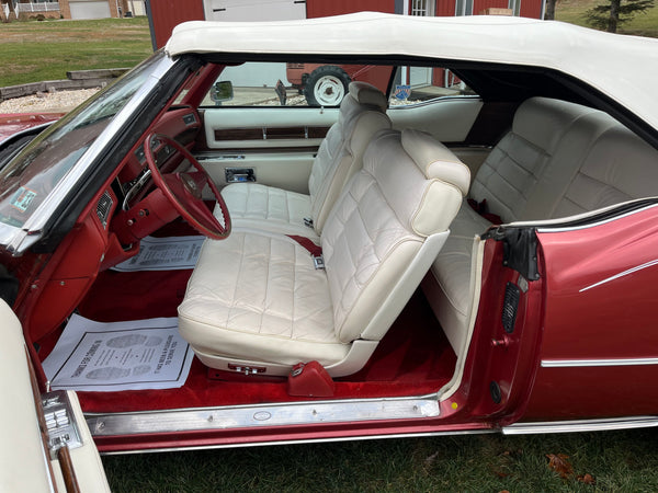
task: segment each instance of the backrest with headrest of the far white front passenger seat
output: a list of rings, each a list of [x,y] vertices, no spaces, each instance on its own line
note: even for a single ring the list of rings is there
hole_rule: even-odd
[[[320,145],[308,179],[314,228],[321,232],[327,216],[347,181],[362,167],[372,136],[390,128],[386,96],[366,82],[351,82],[338,122]]]

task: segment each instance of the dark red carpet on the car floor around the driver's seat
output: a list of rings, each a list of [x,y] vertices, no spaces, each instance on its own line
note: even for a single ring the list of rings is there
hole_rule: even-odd
[[[102,322],[174,317],[191,271],[101,273],[79,307]],[[368,364],[339,379],[334,399],[420,395],[450,380],[456,357],[418,290]],[[195,359],[185,385],[171,390],[79,392],[86,412],[122,412],[308,400],[291,398],[286,381],[223,381],[206,377]]]

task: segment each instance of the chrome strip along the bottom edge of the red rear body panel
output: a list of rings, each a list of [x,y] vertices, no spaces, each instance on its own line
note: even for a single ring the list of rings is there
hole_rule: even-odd
[[[604,417],[537,423],[514,423],[502,427],[503,435],[545,433],[604,432],[612,429],[650,428],[658,426],[658,416]]]

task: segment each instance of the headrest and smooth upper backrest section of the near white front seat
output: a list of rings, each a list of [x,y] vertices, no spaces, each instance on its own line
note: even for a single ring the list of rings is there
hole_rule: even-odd
[[[443,144],[419,130],[381,130],[363,157],[402,225],[429,237],[445,231],[468,192],[470,171]]]

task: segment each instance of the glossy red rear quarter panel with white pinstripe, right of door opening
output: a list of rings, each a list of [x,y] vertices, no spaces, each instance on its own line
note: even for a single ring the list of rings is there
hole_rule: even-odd
[[[657,231],[657,206],[538,230],[545,322],[527,417],[656,413]]]

